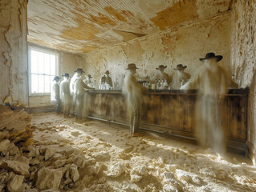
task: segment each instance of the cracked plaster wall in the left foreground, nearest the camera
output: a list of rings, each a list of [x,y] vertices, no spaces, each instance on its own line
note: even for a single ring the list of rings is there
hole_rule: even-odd
[[[0,104],[27,106],[26,0],[0,1]]]

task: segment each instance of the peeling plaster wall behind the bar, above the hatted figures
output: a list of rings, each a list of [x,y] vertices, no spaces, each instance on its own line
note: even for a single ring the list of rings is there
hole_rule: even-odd
[[[138,74],[153,78],[158,65],[166,65],[168,74],[175,73],[173,67],[182,63],[193,73],[202,65],[198,58],[207,52],[222,54],[220,62],[230,71],[230,12],[197,22],[176,26],[173,29],[129,41],[106,50],[94,51],[83,57],[83,69],[96,82],[110,70],[112,80],[122,82],[125,67],[134,62],[139,67]]]

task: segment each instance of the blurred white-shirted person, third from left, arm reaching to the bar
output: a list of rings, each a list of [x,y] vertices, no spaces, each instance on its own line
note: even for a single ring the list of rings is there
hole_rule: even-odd
[[[85,95],[85,89],[91,90],[90,86],[85,85],[82,80],[82,74],[84,71],[82,69],[75,70],[75,80],[73,82],[73,98],[74,98],[74,106],[77,112],[77,118],[82,118],[83,116],[83,98]],[[71,79],[72,80],[72,79]]]

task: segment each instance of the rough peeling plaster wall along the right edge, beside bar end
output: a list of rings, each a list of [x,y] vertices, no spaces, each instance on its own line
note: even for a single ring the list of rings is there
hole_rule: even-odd
[[[231,26],[231,70],[240,86],[250,87],[248,141],[250,158],[256,156],[256,2],[236,0]],[[254,156],[254,157],[253,157]]]

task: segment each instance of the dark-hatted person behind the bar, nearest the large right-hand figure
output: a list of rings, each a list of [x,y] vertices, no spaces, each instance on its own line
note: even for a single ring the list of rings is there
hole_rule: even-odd
[[[190,74],[184,72],[185,68],[187,68],[187,66],[183,66],[182,64],[178,64],[177,67],[174,68],[174,70],[177,70],[177,74],[173,77],[171,86],[173,90],[179,90],[181,86],[189,81]]]

